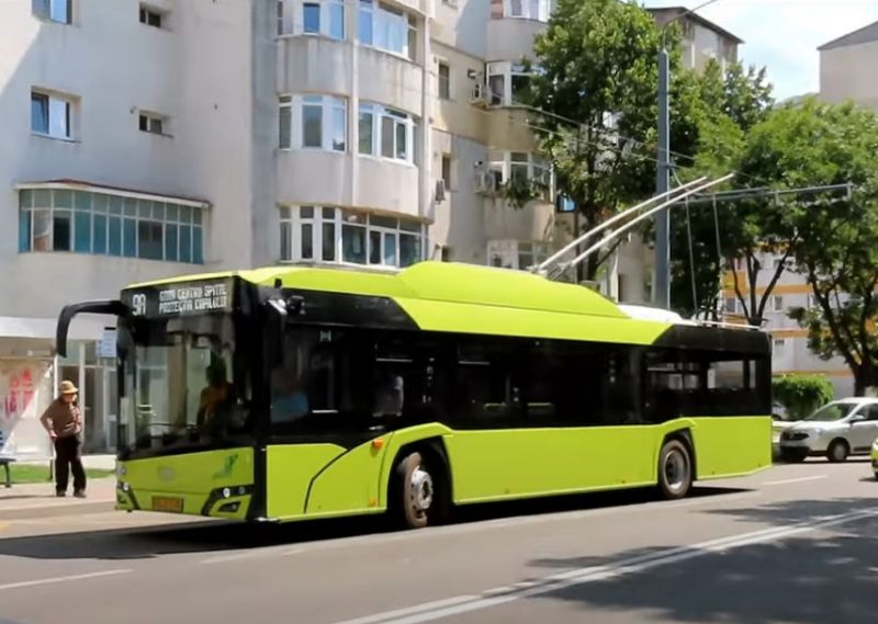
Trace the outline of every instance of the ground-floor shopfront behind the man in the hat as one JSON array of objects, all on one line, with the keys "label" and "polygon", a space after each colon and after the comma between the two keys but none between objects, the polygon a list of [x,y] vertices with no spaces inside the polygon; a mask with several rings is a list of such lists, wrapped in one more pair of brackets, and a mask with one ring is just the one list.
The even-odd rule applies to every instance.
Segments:
[{"label": "ground-floor shopfront behind the man in the hat", "polygon": [[79,388],[83,451],[115,451],[116,373],[112,329],[77,321],[67,358],[54,351],[54,319],[0,317],[0,432],[4,454],[43,460],[52,444],[40,417],[61,381]]}]

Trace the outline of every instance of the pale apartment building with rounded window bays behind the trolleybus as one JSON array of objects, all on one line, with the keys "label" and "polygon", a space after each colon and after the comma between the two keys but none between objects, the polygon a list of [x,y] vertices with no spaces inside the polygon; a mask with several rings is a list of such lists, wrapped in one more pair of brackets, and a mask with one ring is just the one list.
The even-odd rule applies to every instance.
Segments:
[{"label": "pale apartment building with rounded window bays behind the trolleybus", "polygon": [[[113,319],[77,320],[58,359],[68,302],[272,263],[524,269],[544,258],[570,216],[551,192],[511,209],[496,191],[519,177],[551,188],[516,94],[552,7],[0,2],[7,451],[48,453],[36,418],[63,378],[81,390],[87,450],[113,449]],[[694,66],[709,47],[695,21]],[[713,31],[716,54],[733,59],[739,39]],[[650,256],[623,250],[608,292],[627,280],[621,298],[641,300]]]}]

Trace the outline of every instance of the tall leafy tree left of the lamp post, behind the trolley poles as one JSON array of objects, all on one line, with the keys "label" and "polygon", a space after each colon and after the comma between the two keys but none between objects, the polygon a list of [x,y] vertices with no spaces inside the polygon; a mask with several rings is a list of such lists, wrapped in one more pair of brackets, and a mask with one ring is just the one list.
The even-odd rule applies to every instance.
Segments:
[{"label": "tall leafy tree left of the lamp post, behind the trolley poles", "polygon": [[[677,41],[671,30],[674,50]],[[548,29],[536,37],[539,71],[525,99],[543,112],[533,121],[540,127],[540,151],[551,159],[558,188],[577,206],[585,229],[653,193],[660,45],[653,18],[618,0],[560,0]],[[672,55],[671,66],[679,70],[678,54]],[[680,127],[677,147],[693,134],[687,129],[687,79],[675,82],[684,103],[674,111]],[[614,250],[603,259],[589,258],[579,279],[594,280]]]}]

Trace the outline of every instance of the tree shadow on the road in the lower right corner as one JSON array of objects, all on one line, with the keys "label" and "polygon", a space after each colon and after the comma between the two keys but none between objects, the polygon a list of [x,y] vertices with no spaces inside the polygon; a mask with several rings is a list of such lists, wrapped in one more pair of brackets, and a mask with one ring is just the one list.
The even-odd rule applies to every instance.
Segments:
[{"label": "tree shadow on the road in the lower right corner", "polygon": [[[793,524],[864,509],[863,499],[800,500],[752,509],[712,510],[741,520]],[[534,567],[573,570],[658,556],[657,549],[621,553],[611,559],[570,557],[531,561]],[[822,529],[809,536],[699,552],[627,576],[575,585],[532,597],[564,601],[599,613],[641,611],[657,622],[699,624],[874,624],[878,590],[878,519]],[[702,556],[699,556],[702,555]],[[595,617],[597,616],[597,617]]]}]

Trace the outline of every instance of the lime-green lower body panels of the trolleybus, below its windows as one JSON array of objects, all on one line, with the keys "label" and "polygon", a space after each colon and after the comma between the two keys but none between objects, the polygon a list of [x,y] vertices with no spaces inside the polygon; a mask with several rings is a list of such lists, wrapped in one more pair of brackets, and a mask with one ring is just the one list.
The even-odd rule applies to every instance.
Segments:
[{"label": "lime-green lower body panels of the trolleybus, below its windows", "polygon": [[[657,484],[665,438],[688,432],[701,480],[747,475],[772,465],[769,417],[686,418],[656,426],[452,431],[441,424],[403,429],[345,450],[334,444],[271,445],[267,450],[267,514],[294,521],[380,513],[403,449],[440,443],[449,462],[455,504],[556,496]],[[376,447],[380,446],[380,447]],[[232,455],[234,473],[216,478]],[[120,464],[139,509],[154,496],[182,497],[184,513],[202,513],[211,491],[252,485],[252,450],[214,451]],[[179,479],[162,479],[162,468]],[[238,497],[222,502],[238,500]],[[237,513],[245,519],[249,496]],[[119,509],[134,503],[120,490]]]}]

